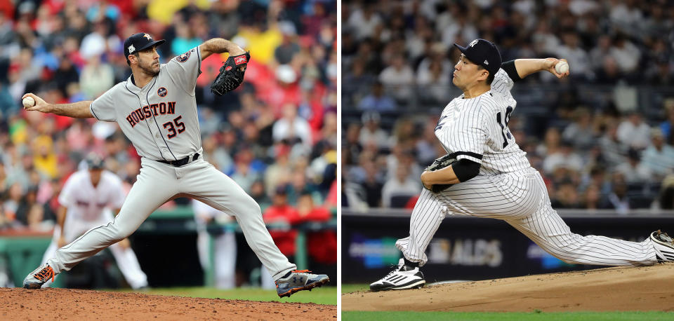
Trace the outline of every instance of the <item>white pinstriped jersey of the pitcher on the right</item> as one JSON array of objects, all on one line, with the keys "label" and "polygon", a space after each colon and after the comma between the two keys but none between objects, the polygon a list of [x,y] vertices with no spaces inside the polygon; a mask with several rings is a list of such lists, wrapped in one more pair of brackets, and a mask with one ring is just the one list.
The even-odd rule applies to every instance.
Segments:
[{"label": "white pinstriped jersey of the pitcher on the right", "polygon": [[530,168],[527,153],[508,130],[517,102],[510,95],[513,80],[499,69],[491,90],[480,96],[454,98],[444,107],[435,136],[447,153],[482,164],[480,175],[494,175]]}]

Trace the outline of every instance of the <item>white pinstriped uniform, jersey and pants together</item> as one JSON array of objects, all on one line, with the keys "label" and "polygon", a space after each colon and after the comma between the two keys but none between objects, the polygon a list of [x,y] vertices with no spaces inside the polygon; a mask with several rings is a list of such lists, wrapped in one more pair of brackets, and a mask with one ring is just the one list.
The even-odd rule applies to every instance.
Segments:
[{"label": "white pinstriped uniform, jersey and pants together", "polygon": [[571,233],[553,210],[541,175],[508,130],[516,102],[513,81],[500,69],[491,90],[478,97],[452,100],[435,128],[437,139],[456,158],[481,163],[480,175],[433,193],[423,189],[409,223],[409,236],[396,247],[409,261],[423,265],[447,214],[503,219],[558,259],[571,264],[638,266],[656,263],[650,238],[641,243]]}]

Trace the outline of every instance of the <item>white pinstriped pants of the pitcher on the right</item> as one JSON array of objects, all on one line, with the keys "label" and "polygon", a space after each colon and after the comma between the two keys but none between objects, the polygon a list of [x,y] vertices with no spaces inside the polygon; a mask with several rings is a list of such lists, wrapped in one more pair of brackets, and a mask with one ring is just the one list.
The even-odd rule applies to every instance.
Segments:
[{"label": "white pinstriped pants of the pitcher on the right", "polygon": [[503,219],[538,246],[569,264],[640,266],[656,263],[650,238],[635,243],[605,236],[571,233],[550,205],[541,175],[520,172],[482,176],[451,186],[441,193],[423,189],[414,205],[409,236],[395,246],[420,266],[428,261],[428,243],[446,214]]}]

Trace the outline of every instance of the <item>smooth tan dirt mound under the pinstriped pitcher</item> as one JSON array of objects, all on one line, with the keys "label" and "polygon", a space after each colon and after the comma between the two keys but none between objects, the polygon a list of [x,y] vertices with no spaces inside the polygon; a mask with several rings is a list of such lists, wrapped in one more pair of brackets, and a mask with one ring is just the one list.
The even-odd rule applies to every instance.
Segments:
[{"label": "smooth tan dirt mound under the pinstriped pitcher", "polygon": [[342,310],[674,311],[674,264],[343,294]]}]

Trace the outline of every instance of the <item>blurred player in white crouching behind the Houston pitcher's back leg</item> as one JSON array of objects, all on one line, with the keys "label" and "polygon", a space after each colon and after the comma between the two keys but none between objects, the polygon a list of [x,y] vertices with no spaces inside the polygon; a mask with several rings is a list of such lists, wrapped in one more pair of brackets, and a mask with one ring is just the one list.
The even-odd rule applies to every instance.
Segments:
[{"label": "blurred player in white crouching behind the Houston pitcher's back leg", "polygon": [[[87,156],[86,164],[87,169],[68,177],[58,196],[57,225],[51,244],[44,252],[43,264],[58,248],[71,243],[90,228],[106,224],[124,204],[126,195],[121,179],[103,169],[103,159],[91,154]],[[128,238],[110,245],[110,252],[128,285],[133,289],[147,287],[147,275],[140,269]],[[44,287],[49,285],[51,282]]]}]

